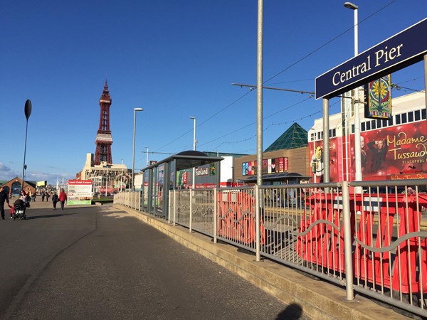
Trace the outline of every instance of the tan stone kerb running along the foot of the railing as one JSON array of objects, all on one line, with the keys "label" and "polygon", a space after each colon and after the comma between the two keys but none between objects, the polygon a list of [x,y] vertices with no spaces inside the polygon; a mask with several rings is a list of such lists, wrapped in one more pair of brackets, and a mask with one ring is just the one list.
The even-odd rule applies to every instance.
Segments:
[{"label": "tan stone kerb running along the foot of the railing", "polygon": [[311,319],[408,319],[367,297],[362,297],[357,292],[354,292],[354,299],[349,301],[343,287],[312,279],[290,267],[267,259],[256,262],[251,252],[239,250],[223,242],[215,244],[208,236],[189,233],[187,228],[169,225],[165,220],[125,206],[117,205],[117,208],[126,210],[191,250],[226,267],[285,304],[297,306]]}]

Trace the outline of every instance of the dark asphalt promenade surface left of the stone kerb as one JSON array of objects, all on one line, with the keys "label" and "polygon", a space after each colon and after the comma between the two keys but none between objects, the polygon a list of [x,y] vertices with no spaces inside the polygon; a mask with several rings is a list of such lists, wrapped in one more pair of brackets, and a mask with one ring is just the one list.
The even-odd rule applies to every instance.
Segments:
[{"label": "dark asphalt promenade surface left of the stone kerb", "polygon": [[307,319],[111,205],[27,215],[0,220],[0,319]]}]

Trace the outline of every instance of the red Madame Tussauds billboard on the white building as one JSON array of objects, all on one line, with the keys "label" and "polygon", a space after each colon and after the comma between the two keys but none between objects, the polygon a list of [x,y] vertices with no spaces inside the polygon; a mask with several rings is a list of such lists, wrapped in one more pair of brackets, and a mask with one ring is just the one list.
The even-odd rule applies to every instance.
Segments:
[{"label": "red Madame Tussauds billboard on the white building", "polygon": [[[427,125],[425,121],[362,132],[361,162],[363,180],[427,178]],[[343,137],[330,139],[330,181],[347,178]],[[349,181],[354,181],[354,134],[349,136]],[[310,157],[315,154],[310,143]],[[312,174],[313,176],[313,174]],[[317,172],[317,182],[320,173]],[[314,176],[313,176],[314,181]]]}]

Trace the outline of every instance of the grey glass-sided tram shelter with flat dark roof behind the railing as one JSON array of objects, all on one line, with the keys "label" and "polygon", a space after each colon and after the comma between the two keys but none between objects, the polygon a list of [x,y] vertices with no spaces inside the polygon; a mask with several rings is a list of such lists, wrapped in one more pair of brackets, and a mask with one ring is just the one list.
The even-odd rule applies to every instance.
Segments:
[{"label": "grey glass-sided tram shelter with flat dark roof behind the railing", "polygon": [[[167,219],[169,216],[169,190],[179,186],[178,174],[187,169],[196,169],[207,164],[216,164],[216,187],[220,186],[220,161],[219,156],[207,156],[204,152],[196,150],[182,151],[169,156],[151,166],[142,169],[142,203],[144,211]],[[196,176],[194,176],[196,178]],[[197,180],[197,178],[195,179]],[[192,179],[191,179],[192,182]]]}]

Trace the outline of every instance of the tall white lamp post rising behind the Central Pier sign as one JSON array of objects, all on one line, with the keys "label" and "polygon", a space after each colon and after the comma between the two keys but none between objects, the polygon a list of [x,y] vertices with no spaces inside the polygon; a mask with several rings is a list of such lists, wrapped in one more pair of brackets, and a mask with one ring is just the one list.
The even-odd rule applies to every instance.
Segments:
[{"label": "tall white lamp post rising behind the Central Pier sign", "polygon": [[[354,56],[359,54],[359,31],[357,22],[357,9],[359,7],[351,2],[345,2],[344,6],[354,11]],[[359,88],[352,91],[354,97],[354,164],[355,180],[362,181],[362,155],[360,152],[360,113],[359,113]],[[347,132],[346,132],[347,133]],[[347,147],[347,146],[346,146]],[[356,187],[357,193],[362,193],[361,187]]]}]

